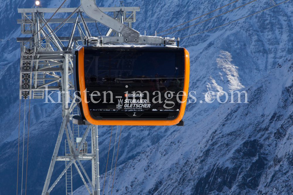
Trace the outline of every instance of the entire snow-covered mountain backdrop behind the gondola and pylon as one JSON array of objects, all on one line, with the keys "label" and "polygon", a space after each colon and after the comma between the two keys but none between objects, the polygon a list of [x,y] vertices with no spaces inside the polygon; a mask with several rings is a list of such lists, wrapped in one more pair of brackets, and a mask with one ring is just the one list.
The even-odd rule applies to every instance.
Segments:
[{"label": "entire snow-covered mountain backdrop behind the gondola and pylon", "polygon": [[[248,2],[236,1],[180,27],[195,24]],[[194,34],[280,2],[257,0],[167,36]],[[62,1],[41,3],[42,7],[58,7]],[[160,32],[228,3],[230,1],[226,0],[127,0],[124,6],[140,6],[141,11],[137,12],[137,21],[132,27],[141,33],[146,30],[147,35],[151,35],[155,30]],[[120,2],[97,0],[98,6],[115,4],[118,6]],[[2,13],[5,13],[0,16],[2,195],[16,193],[20,50],[15,37],[24,36],[16,24],[16,19],[21,18],[17,8],[31,7],[33,1],[0,0],[0,5]],[[66,7],[78,5],[78,0],[67,0],[64,4]],[[56,17],[61,16],[58,14]],[[292,25],[293,4],[288,1],[224,27],[181,39],[180,46],[184,46],[190,53],[189,91],[196,91],[197,101],[187,104],[184,127],[122,127],[113,194],[292,194]],[[57,33],[58,36],[69,36],[71,25],[67,26],[67,30]],[[100,24],[98,27],[105,34],[107,28]],[[89,28],[91,34],[97,34],[94,24],[89,25]],[[179,27],[174,28],[177,29]],[[229,103],[229,92],[235,90],[245,90],[249,103]],[[215,99],[213,103],[205,101],[204,94],[208,91],[215,92],[215,95],[208,97],[209,100]],[[217,101],[216,94],[220,91],[226,91],[229,95],[229,100],[224,104]],[[236,100],[234,94],[234,102]],[[40,194],[42,191],[61,123],[60,105],[43,102],[30,102],[28,194]],[[21,100],[18,194],[21,192],[23,109],[24,100]],[[26,145],[27,113],[25,117]],[[113,127],[113,132],[116,128]],[[98,129],[100,173],[105,172],[110,131],[109,126]],[[60,155],[64,153],[64,144],[61,146]],[[113,147],[112,137],[109,156],[113,155]],[[26,160],[24,162],[26,165]],[[91,164],[85,163],[84,166],[90,170]],[[56,163],[52,180],[57,178],[57,173],[64,167],[64,162]],[[111,160],[108,162],[108,171],[109,167]],[[74,175],[76,189],[83,183],[76,171]],[[104,194],[108,190],[109,175],[107,173]],[[103,182],[104,176],[101,175],[102,190]],[[64,193],[62,178],[51,194]],[[87,194],[87,191],[82,186],[75,193]]]}]

